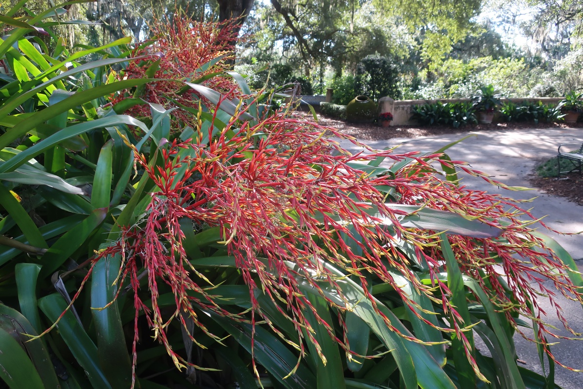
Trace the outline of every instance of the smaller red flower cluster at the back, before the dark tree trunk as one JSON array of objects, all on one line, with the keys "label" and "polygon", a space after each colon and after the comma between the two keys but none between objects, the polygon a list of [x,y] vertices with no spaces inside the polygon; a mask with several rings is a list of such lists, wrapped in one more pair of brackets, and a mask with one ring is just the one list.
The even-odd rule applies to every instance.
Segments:
[{"label": "smaller red flower cluster at the back, before the dark tree trunk", "polygon": [[[130,61],[123,72],[116,73],[118,79],[156,78],[147,83],[141,96],[149,103],[160,104],[164,108],[186,107],[198,110],[199,96],[194,90],[185,87],[182,81],[195,82],[212,73],[228,70],[226,61],[232,59],[234,47],[231,42],[245,40],[237,37],[237,19],[225,22],[196,22],[189,19],[184,10],[174,11],[173,24],[154,20],[150,26],[152,40],[136,44],[132,57],[146,57],[140,61]],[[217,61],[219,57],[222,57]],[[203,65],[216,61],[206,69]],[[156,65],[157,63],[157,65]],[[149,74],[150,66],[157,66],[156,72]],[[151,72],[151,70],[150,70]],[[175,80],[175,81],[174,81]],[[202,85],[225,94],[228,99],[241,98],[243,94],[233,78],[217,75],[205,80]],[[134,97],[129,90],[121,91],[112,97],[113,103]],[[208,101],[206,101],[208,103]],[[135,117],[151,117],[150,107],[138,105],[130,108],[127,114]],[[189,125],[198,127],[198,118],[188,110],[173,113],[174,128]]]}]

